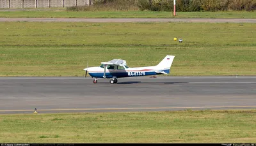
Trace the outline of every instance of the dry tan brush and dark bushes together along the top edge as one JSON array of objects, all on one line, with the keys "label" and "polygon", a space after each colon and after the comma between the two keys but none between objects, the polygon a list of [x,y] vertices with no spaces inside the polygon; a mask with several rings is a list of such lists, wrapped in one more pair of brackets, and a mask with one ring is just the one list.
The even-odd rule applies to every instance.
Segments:
[{"label": "dry tan brush and dark bushes together along the top edge", "polygon": [[[176,0],[175,8],[176,11],[255,11],[256,0]],[[93,0],[92,6],[72,6],[67,9],[173,11],[173,0]]]}]

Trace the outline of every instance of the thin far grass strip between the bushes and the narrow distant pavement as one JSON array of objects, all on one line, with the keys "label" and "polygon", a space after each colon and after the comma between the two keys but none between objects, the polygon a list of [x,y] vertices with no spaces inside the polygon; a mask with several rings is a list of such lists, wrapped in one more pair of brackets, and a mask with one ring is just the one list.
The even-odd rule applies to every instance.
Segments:
[{"label": "thin far grass strip between the bushes and the narrow distant pavement", "polygon": [[[0,9],[1,10],[1,9]],[[27,9],[24,11],[0,11],[5,18],[256,18],[250,11],[179,12],[173,11],[66,11],[64,9]]]}]

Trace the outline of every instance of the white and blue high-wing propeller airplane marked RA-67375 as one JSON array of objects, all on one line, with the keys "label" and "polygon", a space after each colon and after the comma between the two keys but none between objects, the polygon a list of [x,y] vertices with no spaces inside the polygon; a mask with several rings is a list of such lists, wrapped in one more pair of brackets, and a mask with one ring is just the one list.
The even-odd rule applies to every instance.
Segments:
[{"label": "white and blue high-wing propeller airplane marked RA-67375", "polygon": [[101,66],[84,68],[85,77],[88,72],[92,78],[95,78],[93,80],[94,84],[97,83],[97,78],[111,78],[109,83],[115,84],[117,83],[117,78],[164,75],[170,73],[174,57],[174,55],[166,55],[156,66],[138,68],[129,68],[125,60],[113,59],[108,62],[101,62]]}]

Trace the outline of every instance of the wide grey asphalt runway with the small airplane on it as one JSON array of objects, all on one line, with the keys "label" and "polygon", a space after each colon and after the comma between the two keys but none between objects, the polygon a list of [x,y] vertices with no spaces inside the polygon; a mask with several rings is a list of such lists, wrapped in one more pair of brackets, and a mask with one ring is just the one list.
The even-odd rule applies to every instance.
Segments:
[{"label": "wide grey asphalt runway with the small airplane on it", "polygon": [[0,77],[0,114],[256,108],[256,77]]}]

